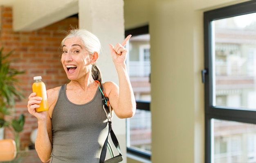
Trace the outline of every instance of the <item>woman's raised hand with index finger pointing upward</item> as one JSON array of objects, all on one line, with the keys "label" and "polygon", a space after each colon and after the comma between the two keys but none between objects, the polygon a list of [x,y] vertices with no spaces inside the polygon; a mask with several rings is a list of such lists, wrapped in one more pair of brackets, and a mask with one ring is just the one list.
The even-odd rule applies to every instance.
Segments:
[{"label": "woman's raised hand with index finger pointing upward", "polygon": [[112,44],[109,44],[109,47],[111,50],[111,55],[112,55],[112,60],[114,63],[117,63],[117,64],[125,63],[128,50],[126,48],[124,48],[124,46],[129,41],[131,36],[132,35],[128,35],[126,37],[126,39],[124,39],[122,44],[117,43],[117,45],[115,47]]}]

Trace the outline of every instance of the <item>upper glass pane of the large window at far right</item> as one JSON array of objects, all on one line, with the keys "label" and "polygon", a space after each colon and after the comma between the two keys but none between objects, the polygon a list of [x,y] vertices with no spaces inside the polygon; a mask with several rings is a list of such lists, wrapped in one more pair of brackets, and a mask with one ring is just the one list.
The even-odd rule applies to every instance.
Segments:
[{"label": "upper glass pane of the large window at far right", "polygon": [[256,109],[256,13],[211,26],[213,106]]}]

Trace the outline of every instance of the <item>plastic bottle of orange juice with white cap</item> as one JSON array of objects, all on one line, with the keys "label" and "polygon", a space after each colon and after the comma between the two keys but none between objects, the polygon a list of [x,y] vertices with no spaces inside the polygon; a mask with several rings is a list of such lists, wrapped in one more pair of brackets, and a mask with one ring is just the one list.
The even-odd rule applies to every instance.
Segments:
[{"label": "plastic bottle of orange juice with white cap", "polygon": [[34,77],[34,83],[32,85],[32,89],[33,89],[33,92],[36,92],[36,96],[39,96],[42,98],[42,101],[39,104],[40,107],[36,108],[36,111],[37,112],[47,111],[49,109],[49,107],[48,107],[45,83],[43,83],[43,81],[42,81],[42,76]]}]

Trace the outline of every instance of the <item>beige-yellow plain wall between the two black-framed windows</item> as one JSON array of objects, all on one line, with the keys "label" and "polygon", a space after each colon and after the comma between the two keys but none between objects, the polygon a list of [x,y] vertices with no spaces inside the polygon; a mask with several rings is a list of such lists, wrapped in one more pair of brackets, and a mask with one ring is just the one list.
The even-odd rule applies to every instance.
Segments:
[{"label": "beige-yellow plain wall between the two black-framed windows", "polygon": [[124,2],[126,29],[149,24],[152,163],[204,163],[203,12],[244,1]]}]

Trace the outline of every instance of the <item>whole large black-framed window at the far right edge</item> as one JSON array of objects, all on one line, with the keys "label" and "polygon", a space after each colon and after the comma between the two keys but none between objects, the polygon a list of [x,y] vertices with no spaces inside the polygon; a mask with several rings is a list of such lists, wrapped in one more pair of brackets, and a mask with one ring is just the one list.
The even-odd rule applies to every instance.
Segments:
[{"label": "whole large black-framed window at the far right edge", "polygon": [[204,13],[205,163],[256,163],[256,0]]}]

